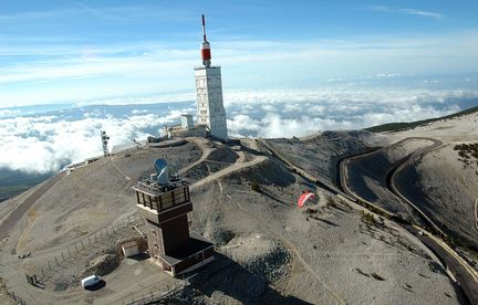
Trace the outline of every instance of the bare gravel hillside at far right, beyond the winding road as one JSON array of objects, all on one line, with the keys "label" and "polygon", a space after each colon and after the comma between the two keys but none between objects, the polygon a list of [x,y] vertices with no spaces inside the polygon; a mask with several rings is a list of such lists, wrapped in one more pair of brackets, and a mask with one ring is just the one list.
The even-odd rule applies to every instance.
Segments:
[{"label": "bare gravel hillside at far right, beyond the winding road", "polygon": [[454,147],[464,143],[478,143],[477,126],[478,113],[474,113],[387,134],[395,139],[428,136],[445,143],[443,148],[406,168],[399,177],[401,189],[446,225],[455,238],[475,246],[478,246],[474,210],[478,198],[478,160],[474,157],[465,160]]}]

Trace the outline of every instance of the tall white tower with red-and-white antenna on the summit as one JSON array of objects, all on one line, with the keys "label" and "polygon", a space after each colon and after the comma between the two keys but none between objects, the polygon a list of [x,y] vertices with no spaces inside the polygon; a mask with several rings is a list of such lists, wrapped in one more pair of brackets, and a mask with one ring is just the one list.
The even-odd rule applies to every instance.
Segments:
[{"label": "tall white tower with red-and-white antenna on the summit", "polygon": [[202,66],[195,67],[197,123],[209,127],[212,137],[229,140],[226,111],[222,103],[220,66],[210,65],[210,44],[206,40],[206,22],[202,15]]}]

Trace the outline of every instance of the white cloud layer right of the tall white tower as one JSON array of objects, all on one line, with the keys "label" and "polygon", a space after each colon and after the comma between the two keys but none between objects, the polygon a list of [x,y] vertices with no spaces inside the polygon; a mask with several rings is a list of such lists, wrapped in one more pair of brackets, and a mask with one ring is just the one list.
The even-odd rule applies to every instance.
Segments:
[{"label": "white cloud layer right of the tall white tower", "polygon": [[232,135],[271,138],[439,117],[477,97],[461,90],[322,88],[229,92],[226,104]]}]

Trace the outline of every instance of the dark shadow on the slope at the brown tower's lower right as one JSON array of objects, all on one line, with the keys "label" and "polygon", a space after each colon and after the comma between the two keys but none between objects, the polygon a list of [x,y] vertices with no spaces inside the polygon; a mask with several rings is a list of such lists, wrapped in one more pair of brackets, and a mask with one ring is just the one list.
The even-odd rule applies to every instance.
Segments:
[{"label": "dark shadow on the slope at the brown tower's lower right", "polygon": [[216,261],[189,275],[195,293],[208,297],[219,292],[241,304],[311,304],[295,296],[285,296],[272,288],[266,276],[251,273],[231,259],[217,253]]}]

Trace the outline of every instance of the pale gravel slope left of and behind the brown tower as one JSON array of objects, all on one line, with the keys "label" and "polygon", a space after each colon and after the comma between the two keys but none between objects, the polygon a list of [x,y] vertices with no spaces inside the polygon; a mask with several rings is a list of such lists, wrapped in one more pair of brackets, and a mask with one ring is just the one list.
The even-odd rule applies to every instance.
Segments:
[{"label": "pale gravel slope left of and behind the brown tower", "polygon": [[154,160],[167,157],[180,168],[199,156],[200,150],[193,144],[134,149],[72,171],[29,210],[18,251],[51,249],[131,214],[135,211],[131,187],[139,177],[148,177],[154,171]]}]

